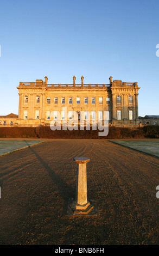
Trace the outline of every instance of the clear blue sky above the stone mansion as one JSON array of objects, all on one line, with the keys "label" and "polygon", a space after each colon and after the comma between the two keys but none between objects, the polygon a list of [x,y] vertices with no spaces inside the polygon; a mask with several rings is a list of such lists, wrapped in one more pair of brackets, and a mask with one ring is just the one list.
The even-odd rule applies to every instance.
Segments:
[{"label": "clear blue sky above the stone mansion", "polygon": [[139,115],[159,115],[158,0],[1,0],[0,115],[19,82],[138,82]]}]

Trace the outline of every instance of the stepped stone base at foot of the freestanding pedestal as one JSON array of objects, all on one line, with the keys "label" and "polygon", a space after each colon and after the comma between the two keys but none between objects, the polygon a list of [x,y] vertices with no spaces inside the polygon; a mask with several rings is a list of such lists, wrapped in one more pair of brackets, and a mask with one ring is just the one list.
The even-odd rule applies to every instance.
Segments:
[{"label": "stepped stone base at foot of the freestanding pedestal", "polygon": [[84,205],[77,204],[73,199],[69,199],[68,202],[68,211],[72,211],[73,215],[87,215],[92,211],[94,206],[87,202]]}]

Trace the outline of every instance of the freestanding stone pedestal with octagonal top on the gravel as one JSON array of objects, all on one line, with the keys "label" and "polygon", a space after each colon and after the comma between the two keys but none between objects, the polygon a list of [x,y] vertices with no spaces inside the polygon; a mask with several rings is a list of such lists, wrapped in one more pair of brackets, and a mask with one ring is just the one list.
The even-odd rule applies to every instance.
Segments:
[{"label": "freestanding stone pedestal with octagonal top on the gravel", "polygon": [[86,163],[90,161],[87,157],[75,157],[74,161],[78,163],[77,185],[75,200],[69,204],[74,214],[88,214],[93,209],[93,205],[87,201],[87,171]]}]

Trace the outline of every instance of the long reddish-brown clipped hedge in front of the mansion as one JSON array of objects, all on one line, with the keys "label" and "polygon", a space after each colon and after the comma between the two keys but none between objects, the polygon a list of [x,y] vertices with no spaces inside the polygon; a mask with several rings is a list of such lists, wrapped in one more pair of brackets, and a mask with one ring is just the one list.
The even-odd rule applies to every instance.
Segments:
[{"label": "long reddish-brown clipped hedge in front of the mansion", "polygon": [[49,126],[37,127],[0,127],[0,138],[86,138],[86,139],[120,139],[120,138],[155,138],[159,134],[159,126],[144,126],[138,129],[109,127],[107,136],[98,136],[96,131],[80,129],[69,131],[55,130],[52,131]]}]

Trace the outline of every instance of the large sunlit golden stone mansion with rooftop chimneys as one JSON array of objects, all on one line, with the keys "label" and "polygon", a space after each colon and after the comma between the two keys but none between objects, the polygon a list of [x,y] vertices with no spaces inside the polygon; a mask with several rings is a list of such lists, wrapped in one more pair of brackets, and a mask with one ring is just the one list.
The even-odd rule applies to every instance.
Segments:
[{"label": "large sunlit golden stone mansion with rooftop chimneys", "polygon": [[[49,84],[48,78],[36,82],[20,82],[18,89],[18,115],[10,114],[0,121],[17,126],[49,125],[52,119],[57,119],[58,112],[61,120],[71,120],[73,113],[81,118],[104,120],[104,112],[110,125],[133,126],[139,124],[138,118],[138,84],[126,83],[121,80],[109,84],[85,84],[84,77],[81,83]],[[63,107],[67,112],[63,111]],[[83,114],[81,114],[83,113]],[[97,117],[98,113],[98,117]]]}]

